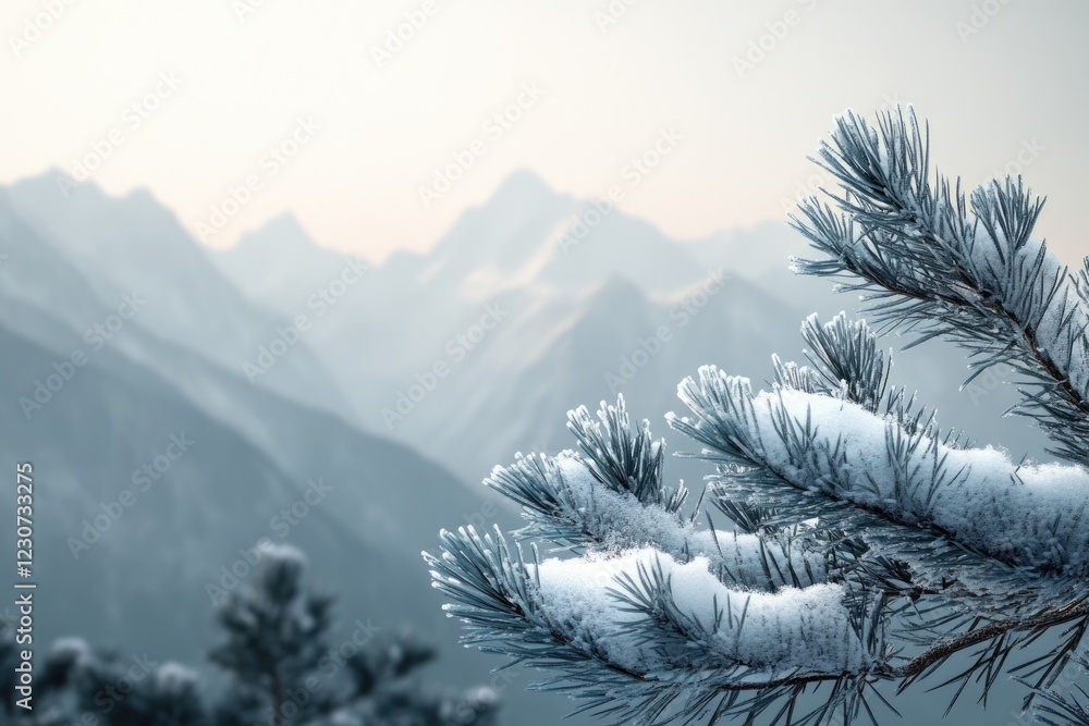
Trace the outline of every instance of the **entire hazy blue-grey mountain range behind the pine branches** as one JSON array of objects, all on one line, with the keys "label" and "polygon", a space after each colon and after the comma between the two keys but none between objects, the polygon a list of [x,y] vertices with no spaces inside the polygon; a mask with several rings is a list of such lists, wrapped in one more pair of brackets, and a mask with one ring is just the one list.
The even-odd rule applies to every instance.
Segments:
[{"label": "entire hazy blue-grey mountain range behind the pine branches", "polygon": [[[419,552],[441,527],[515,521],[478,483],[491,467],[570,447],[566,411],[617,394],[690,450],[663,421],[684,377],[715,364],[760,384],[773,353],[802,358],[805,316],[857,307],[790,273],[805,245],[784,224],[678,241],[528,171],[381,264],[290,213],[207,249],[147,190],[57,179],[0,188],[0,452],[36,466],[40,635],[163,660],[201,659],[209,586],[264,537],[309,554],[344,622],[412,624],[448,647],[443,679],[487,681],[498,663],[452,647]],[[1002,418],[1001,377],[958,392],[964,373],[932,344],[897,352],[893,382],[944,426],[1041,456]],[[524,685],[503,693],[519,723],[570,706]]]}]

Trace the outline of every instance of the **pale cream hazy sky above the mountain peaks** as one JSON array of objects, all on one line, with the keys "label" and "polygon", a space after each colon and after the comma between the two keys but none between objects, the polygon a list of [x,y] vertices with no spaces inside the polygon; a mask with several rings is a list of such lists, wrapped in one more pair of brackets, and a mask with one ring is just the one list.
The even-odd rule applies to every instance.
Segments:
[{"label": "pale cream hazy sky above the mountain peaks", "polygon": [[[290,209],[370,259],[424,249],[522,167],[584,196],[622,183],[627,211],[701,236],[781,219],[833,114],[909,101],[943,170],[1021,163],[1042,231],[1089,254],[1084,1],[69,2],[0,11],[0,182],[108,151],[94,182],[150,187],[196,234],[256,177],[215,246]],[[420,27],[387,48],[406,13]],[[663,130],[669,153],[633,173]],[[427,208],[455,156],[472,167]]]}]

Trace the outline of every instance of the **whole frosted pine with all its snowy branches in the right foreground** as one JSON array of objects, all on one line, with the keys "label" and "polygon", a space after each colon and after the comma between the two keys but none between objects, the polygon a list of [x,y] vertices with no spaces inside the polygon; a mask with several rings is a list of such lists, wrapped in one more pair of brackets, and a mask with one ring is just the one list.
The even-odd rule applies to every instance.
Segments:
[{"label": "whole frosted pine with all its snowy branches in the right foreground", "polygon": [[928,137],[910,110],[837,120],[818,163],[841,188],[791,218],[821,255],[796,271],[861,293],[884,330],[959,344],[972,376],[1013,366],[1016,413],[1068,464],[940,430],[865,322],[812,317],[808,365],[773,358],[769,390],[713,366],[681,383],[689,413],[668,421],[715,465],[689,514],[623,398],[568,415],[577,453],[497,468],[486,483],[527,520],[514,544],[469,527],[425,555],[467,642],[614,723],[877,723],[882,685],[954,656],[953,701],[1015,674],[1043,723],[1089,723],[1054,688],[1089,628],[1089,259],[1070,272],[1032,238],[1020,179],[966,196],[932,176]]}]

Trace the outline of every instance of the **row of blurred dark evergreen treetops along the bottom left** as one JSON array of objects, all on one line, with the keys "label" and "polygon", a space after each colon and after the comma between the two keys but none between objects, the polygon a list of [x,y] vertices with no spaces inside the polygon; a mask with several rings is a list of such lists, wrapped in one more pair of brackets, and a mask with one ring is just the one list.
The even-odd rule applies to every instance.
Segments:
[{"label": "row of blurred dark evergreen treetops along the bottom left", "polygon": [[[14,627],[0,620],[5,688],[0,726],[490,726],[499,703],[487,688],[432,693],[419,670],[437,652],[409,633],[353,633],[351,654],[330,649],[332,599],[304,587],[292,547],[267,553],[250,583],[218,612],[224,639],[209,654],[228,672],[212,701],[176,663],[123,659],[78,638],[53,643],[35,666],[34,710],[15,705]],[[360,642],[359,635],[366,640]],[[335,659],[334,659],[335,655]],[[9,667],[10,666],[10,667]]]}]

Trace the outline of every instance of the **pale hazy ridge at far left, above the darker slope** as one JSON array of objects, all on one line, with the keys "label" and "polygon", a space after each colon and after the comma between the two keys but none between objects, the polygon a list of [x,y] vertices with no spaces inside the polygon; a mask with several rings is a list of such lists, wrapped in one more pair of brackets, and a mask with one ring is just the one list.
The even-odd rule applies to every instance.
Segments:
[{"label": "pale hazy ridge at far left, above the darker slope", "polygon": [[[133,292],[145,297],[137,327],[228,370],[243,371],[287,323],[240,293],[147,190],[110,197],[93,183],[72,189],[58,185],[57,179],[58,173],[50,172],[14,184],[5,193],[7,212],[0,213],[17,216],[35,237],[63,251],[103,302],[120,303]],[[49,282],[41,281],[47,287]],[[309,406],[352,416],[308,342],[292,348],[255,382]]]}]

